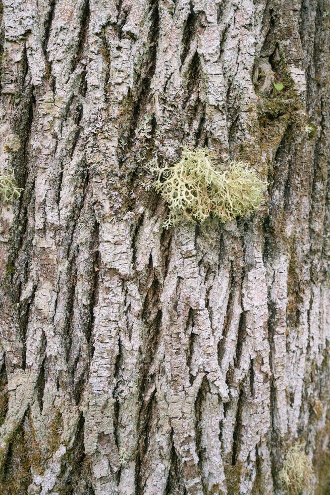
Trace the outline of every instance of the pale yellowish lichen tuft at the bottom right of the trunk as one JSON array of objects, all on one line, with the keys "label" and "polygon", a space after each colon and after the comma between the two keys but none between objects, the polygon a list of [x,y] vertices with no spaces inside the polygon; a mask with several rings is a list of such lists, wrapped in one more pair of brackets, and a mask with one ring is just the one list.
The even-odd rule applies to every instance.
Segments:
[{"label": "pale yellowish lichen tuft at the bottom right of the trunk", "polygon": [[298,495],[302,491],[310,492],[313,468],[302,445],[297,443],[290,447],[279,476],[282,484],[292,495]]}]

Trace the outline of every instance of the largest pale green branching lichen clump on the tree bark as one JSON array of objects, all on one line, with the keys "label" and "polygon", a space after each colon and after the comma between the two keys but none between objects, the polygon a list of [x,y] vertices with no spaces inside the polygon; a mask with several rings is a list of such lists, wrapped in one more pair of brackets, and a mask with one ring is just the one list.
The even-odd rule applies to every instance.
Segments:
[{"label": "largest pale green branching lichen clump on the tree bark", "polygon": [[182,218],[202,223],[211,216],[228,222],[260,208],[266,183],[256,172],[237,161],[218,169],[215,161],[206,148],[184,148],[178,163],[153,165],[156,179],[152,185],[170,208],[164,228],[177,225]]}]

